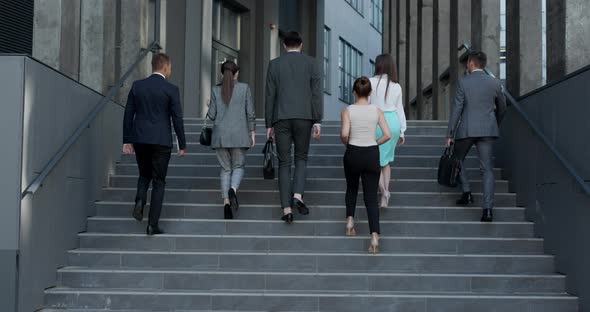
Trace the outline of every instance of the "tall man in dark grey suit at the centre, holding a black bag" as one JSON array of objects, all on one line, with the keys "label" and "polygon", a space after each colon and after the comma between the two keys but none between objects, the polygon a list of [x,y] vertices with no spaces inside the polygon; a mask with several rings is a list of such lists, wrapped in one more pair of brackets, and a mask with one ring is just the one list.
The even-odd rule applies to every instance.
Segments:
[{"label": "tall man in dark grey suit at the centre, holding a black bag", "polygon": [[[315,59],[301,53],[298,32],[285,33],[285,55],[268,65],[265,119],[267,138],[276,137],[282,219],[293,222],[291,208],[309,214],[303,203],[307,154],[313,129],[318,140],[323,117],[322,74]],[[291,181],[291,145],[295,145],[295,175]]]}]

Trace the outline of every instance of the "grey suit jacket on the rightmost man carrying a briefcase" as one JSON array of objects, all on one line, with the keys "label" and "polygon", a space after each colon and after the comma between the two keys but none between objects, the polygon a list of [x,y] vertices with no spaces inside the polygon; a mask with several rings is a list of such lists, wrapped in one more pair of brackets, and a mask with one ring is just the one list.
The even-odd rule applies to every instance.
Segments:
[{"label": "grey suit jacket on the rightmost man carrying a briefcase", "polygon": [[459,79],[457,83],[447,136],[455,136],[458,140],[498,137],[498,125],[505,112],[506,98],[500,81],[482,71],[473,72]]}]

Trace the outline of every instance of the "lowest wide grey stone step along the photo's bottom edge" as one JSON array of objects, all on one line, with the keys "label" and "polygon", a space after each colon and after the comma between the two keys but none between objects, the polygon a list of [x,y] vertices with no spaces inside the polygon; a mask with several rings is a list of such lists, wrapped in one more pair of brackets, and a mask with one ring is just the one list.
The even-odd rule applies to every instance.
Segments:
[{"label": "lowest wide grey stone step along the photo's bottom edge", "polygon": [[[404,312],[577,312],[567,295],[481,295],[472,293],[374,293],[311,291],[148,291],[142,289],[52,288],[49,307],[145,311],[404,311]],[[133,307],[130,309],[130,307]]]}]

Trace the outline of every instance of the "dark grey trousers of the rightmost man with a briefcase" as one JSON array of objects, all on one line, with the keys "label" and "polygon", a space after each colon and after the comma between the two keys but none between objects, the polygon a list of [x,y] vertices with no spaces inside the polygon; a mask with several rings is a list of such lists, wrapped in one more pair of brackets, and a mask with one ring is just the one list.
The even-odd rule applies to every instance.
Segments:
[{"label": "dark grey trousers of the rightmost man with a briefcase", "polygon": [[[493,137],[482,137],[482,138],[466,138],[457,140],[455,142],[455,155],[461,160],[461,166],[463,167],[463,161],[469,153],[469,150],[473,145],[477,148],[477,154],[479,158],[479,168],[482,174],[483,182],[483,209],[494,208],[494,142],[496,138]],[[461,182],[461,188],[463,192],[471,192],[469,185],[469,178],[467,170],[461,170],[459,176]]]}]

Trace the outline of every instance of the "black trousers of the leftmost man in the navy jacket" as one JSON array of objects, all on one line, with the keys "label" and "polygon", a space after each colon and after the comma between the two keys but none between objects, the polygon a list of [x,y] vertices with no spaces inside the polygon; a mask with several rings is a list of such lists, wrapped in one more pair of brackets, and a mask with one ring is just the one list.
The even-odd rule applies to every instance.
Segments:
[{"label": "black trousers of the leftmost man in the navy jacket", "polygon": [[137,195],[135,202],[147,202],[147,191],[152,183],[152,199],[150,200],[150,215],[148,223],[151,226],[158,225],[164,202],[164,190],[166,187],[166,174],[172,148],[153,144],[133,144],[135,158],[139,167],[139,179],[137,180]]}]

